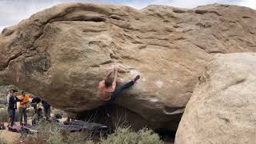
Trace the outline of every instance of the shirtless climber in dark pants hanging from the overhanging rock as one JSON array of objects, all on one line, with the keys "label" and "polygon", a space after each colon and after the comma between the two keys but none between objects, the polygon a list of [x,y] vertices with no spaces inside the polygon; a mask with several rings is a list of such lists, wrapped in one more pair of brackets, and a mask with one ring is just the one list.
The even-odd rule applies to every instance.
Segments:
[{"label": "shirtless climber in dark pants hanging from the overhanging rock", "polygon": [[[99,96],[102,98],[102,101],[106,104],[110,104],[111,102],[114,102],[115,98],[117,98],[122,90],[125,90],[129,88],[130,86],[133,86],[134,83],[140,78],[139,75],[137,75],[132,81],[116,87],[117,80],[118,80],[118,69],[114,68],[114,79],[110,77],[110,75],[113,73],[113,70],[110,71],[109,74],[106,75],[105,78],[98,84],[98,93]],[[110,111],[108,110],[107,116],[110,116]]]}]

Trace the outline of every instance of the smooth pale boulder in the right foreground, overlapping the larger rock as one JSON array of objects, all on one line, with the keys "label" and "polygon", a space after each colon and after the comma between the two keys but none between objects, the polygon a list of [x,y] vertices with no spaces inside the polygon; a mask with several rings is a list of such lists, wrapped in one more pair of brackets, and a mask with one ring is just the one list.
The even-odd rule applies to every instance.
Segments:
[{"label": "smooth pale boulder in the right foreground, overlapping the larger rock", "polygon": [[256,54],[218,54],[178,126],[176,144],[255,143]]}]

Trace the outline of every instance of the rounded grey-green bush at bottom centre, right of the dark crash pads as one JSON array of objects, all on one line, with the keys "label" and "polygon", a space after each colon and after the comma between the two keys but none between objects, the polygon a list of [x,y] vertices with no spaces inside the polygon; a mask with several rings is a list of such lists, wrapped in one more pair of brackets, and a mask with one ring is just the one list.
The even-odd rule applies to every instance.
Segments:
[{"label": "rounded grey-green bush at bottom centre, right of the dark crash pads", "polygon": [[130,127],[118,127],[113,134],[101,139],[101,144],[163,144],[153,130],[146,128],[134,132]]}]

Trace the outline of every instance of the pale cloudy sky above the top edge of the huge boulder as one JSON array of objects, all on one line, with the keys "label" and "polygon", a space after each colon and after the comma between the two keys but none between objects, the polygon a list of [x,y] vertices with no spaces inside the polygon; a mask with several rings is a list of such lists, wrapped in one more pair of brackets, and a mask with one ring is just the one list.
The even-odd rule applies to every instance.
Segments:
[{"label": "pale cloudy sky above the top edge of the huge boulder", "polygon": [[24,18],[29,18],[31,14],[38,10],[63,2],[101,2],[132,6],[136,9],[142,9],[150,4],[194,8],[211,3],[223,3],[256,9],[256,0],[0,0],[0,31],[6,26],[14,25]]}]

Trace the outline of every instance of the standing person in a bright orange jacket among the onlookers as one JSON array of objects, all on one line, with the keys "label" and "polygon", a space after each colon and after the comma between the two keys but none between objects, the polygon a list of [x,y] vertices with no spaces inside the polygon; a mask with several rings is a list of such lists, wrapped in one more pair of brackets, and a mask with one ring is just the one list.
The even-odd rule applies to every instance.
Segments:
[{"label": "standing person in a bright orange jacket among the onlookers", "polygon": [[[27,126],[27,114],[26,108],[29,107],[30,97],[22,91],[21,98],[22,102],[19,103],[19,124]],[[22,123],[22,118],[24,118],[24,123]]]}]

